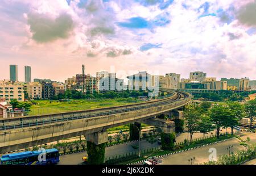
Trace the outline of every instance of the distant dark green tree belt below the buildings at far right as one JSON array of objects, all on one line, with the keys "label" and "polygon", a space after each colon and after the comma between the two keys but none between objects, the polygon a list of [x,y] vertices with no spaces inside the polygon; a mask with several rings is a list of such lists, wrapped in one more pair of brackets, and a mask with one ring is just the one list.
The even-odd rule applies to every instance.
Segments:
[{"label": "distant dark green tree belt below the buildings at far right", "polygon": [[[256,91],[251,91],[250,94],[256,93]],[[222,101],[222,100],[229,100],[229,101],[238,101],[238,100],[243,100],[246,97],[248,97],[249,92],[248,91],[242,91],[241,93],[235,93],[234,91],[230,90],[221,90],[216,93],[200,93],[200,94],[195,94],[194,98],[199,99],[199,98],[204,98],[206,100],[211,100],[211,101]]]}]

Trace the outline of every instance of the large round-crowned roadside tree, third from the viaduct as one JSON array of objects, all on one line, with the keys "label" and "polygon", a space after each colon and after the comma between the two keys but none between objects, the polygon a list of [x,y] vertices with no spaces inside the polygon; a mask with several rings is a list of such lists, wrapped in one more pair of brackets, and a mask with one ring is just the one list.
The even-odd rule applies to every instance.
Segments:
[{"label": "large round-crowned roadside tree, third from the viaduct", "polygon": [[226,119],[230,118],[230,110],[228,107],[222,105],[215,105],[210,109],[210,119],[213,121],[216,131],[217,139],[220,137],[220,129],[226,125]]}]

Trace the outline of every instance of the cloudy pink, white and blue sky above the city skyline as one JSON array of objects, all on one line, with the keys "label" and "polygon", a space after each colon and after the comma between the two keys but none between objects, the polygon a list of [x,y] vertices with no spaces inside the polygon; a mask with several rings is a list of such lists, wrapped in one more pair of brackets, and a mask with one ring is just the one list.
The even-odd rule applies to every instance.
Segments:
[{"label": "cloudy pink, white and blue sky above the city skyline", "polygon": [[2,0],[0,79],[9,65],[64,81],[106,70],[125,77],[206,72],[256,79],[255,0]]}]

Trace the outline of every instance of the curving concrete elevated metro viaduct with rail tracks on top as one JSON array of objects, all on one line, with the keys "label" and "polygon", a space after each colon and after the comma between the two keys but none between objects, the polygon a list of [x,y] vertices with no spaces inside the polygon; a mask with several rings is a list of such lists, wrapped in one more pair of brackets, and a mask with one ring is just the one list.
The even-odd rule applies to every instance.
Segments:
[{"label": "curving concrete elevated metro viaduct with rail tracks on top", "polygon": [[191,100],[191,94],[170,89],[160,91],[170,95],[127,106],[0,119],[0,153],[80,135],[99,145],[108,141],[106,129],[142,121],[155,124],[165,133],[173,132],[173,121],[166,122],[155,117],[182,108]]}]

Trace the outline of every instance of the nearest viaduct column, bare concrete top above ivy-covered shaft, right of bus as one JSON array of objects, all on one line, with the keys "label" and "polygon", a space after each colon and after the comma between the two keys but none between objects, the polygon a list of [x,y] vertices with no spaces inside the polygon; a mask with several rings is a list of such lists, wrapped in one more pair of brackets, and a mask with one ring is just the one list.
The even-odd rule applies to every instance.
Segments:
[{"label": "nearest viaduct column, bare concrete top above ivy-covered shaft, right of bus", "polygon": [[105,146],[108,143],[108,132],[101,131],[85,136],[88,154],[88,164],[99,165],[105,160]]}]

